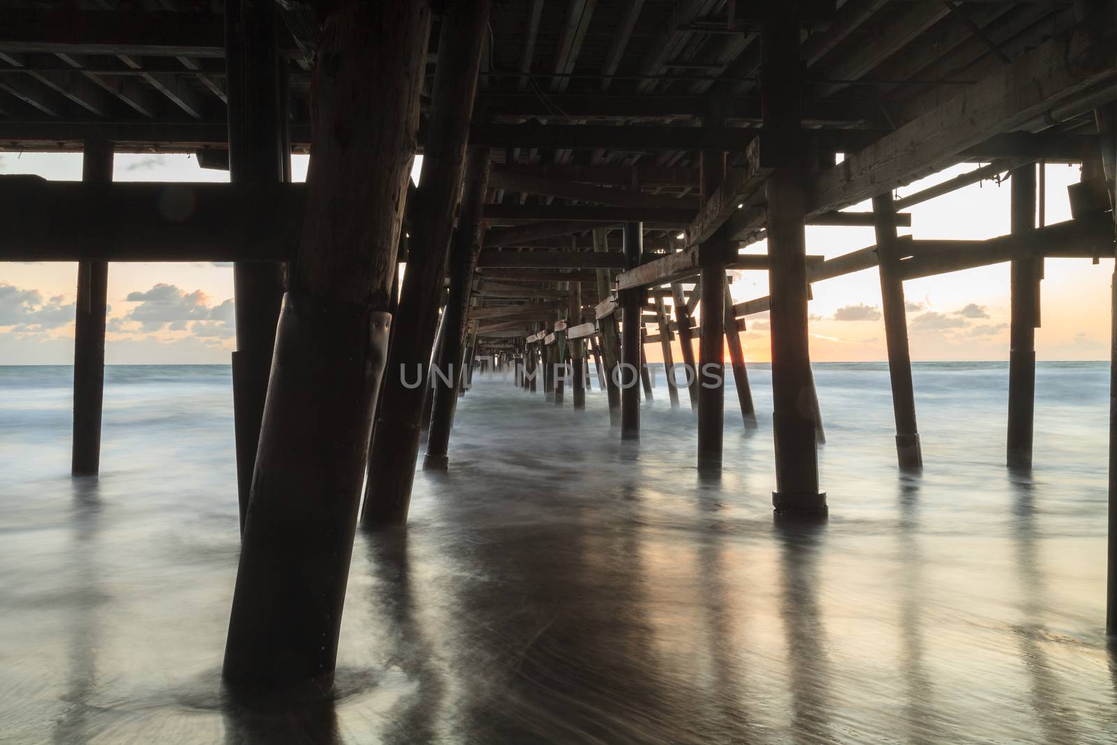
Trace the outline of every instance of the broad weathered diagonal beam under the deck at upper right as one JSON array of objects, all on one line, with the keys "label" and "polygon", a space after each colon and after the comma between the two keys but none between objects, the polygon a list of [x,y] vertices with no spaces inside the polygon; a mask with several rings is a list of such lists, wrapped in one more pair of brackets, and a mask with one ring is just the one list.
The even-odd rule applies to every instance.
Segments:
[{"label": "broad weathered diagonal beam under the deck at upper right", "polygon": [[840,209],[962,160],[960,154],[1048,111],[1066,96],[1117,78],[1111,37],[1078,28],[964,88],[823,171],[809,190],[809,211]]}]

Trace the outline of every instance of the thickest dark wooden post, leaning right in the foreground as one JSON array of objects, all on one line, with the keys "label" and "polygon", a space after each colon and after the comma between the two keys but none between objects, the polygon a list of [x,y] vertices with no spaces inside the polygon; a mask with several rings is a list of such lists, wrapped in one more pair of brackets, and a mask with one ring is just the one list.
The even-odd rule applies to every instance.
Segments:
[{"label": "thickest dark wooden post, leaning right in the foreground", "polygon": [[343,0],[324,23],[300,258],[279,318],[225,653],[237,687],[333,682],[417,145],[429,6]]}]

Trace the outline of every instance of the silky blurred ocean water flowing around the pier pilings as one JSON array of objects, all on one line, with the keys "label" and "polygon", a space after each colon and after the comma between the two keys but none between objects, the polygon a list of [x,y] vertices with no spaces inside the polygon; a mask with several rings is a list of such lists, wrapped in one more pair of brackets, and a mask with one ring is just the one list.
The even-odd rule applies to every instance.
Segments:
[{"label": "silky blurred ocean water flowing around the pier pilings", "polygon": [[819,364],[830,517],[773,522],[760,429],[725,468],[662,376],[639,443],[475,375],[407,529],[360,533],[337,693],[220,687],[238,552],[230,371],[109,366],[102,474],[70,478],[69,367],[0,367],[0,742],[1113,743],[1108,365],[1041,363],[1035,467],[1008,369],[916,364],[925,470],[884,364]]}]

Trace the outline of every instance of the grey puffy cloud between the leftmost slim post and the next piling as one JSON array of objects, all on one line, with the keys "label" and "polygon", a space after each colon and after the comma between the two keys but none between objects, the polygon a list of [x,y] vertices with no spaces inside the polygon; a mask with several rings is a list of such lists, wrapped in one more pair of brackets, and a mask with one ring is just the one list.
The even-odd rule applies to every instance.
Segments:
[{"label": "grey puffy cloud between the leftmost slim post and the next piling", "polygon": [[200,289],[192,293],[174,285],[160,283],[149,290],[128,293],[130,303],[140,305],[122,318],[113,318],[108,331],[126,333],[125,324],[140,324],[141,332],[190,331],[199,337],[228,338],[233,329],[236,304],[229,299],[220,305],[210,305],[209,296]]}]

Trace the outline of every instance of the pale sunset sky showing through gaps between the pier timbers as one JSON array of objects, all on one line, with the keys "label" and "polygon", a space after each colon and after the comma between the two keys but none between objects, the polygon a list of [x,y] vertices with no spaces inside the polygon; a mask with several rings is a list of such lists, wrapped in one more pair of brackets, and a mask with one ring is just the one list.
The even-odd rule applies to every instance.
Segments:
[{"label": "pale sunset sky showing through gaps between the pier timbers", "polygon": [[[416,175],[418,175],[418,163]],[[306,156],[295,156],[296,181]],[[910,194],[963,173],[963,164],[898,189]],[[1067,185],[1079,168],[1047,166],[1048,225],[1070,219]],[[76,181],[77,153],[0,153],[0,174],[34,173]],[[192,155],[117,154],[116,181],[227,181],[227,171],[204,170]],[[1009,232],[1009,183],[983,182],[910,208],[915,238],[985,239]],[[868,202],[852,210],[869,210]],[[872,228],[808,227],[808,252],[832,258],[875,242]],[[764,252],[763,242],[748,247]],[[1040,360],[1108,360],[1109,283],[1113,261],[1047,259]],[[71,364],[76,264],[0,264],[0,365]],[[235,348],[232,267],[199,264],[114,262],[108,271],[107,364],[228,364]],[[767,294],[764,271],[734,273],[735,302]],[[1006,360],[1009,265],[967,269],[905,283],[911,357]],[[811,357],[819,362],[886,360],[880,285],[876,268],[813,285]],[[766,314],[750,316],[742,334],[746,360],[770,360]],[[659,345],[648,345],[660,361]],[[678,348],[676,346],[676,357]]]}]

